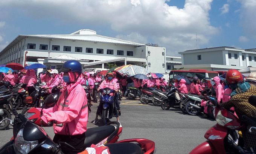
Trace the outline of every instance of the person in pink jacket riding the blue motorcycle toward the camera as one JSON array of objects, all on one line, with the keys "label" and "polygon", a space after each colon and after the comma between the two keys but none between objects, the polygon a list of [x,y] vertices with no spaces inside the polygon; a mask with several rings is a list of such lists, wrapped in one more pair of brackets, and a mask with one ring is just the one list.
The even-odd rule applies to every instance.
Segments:
[{"label": "person in pink jacket riding the blue motorcycle toward the camera", "polygon": [[[101,83],[101,85],[99,86],[98,91],[100,89],[110,88],[110,89],[113,89],[117,92],[118,88],[117,88],[116,82],[113,81],[113,78],[114,78],[113,72],[108,71],[107,74],[106,74],[106,78],[107,79],[105,79]],[[110,96],[113,96],[113,93],[111,93]],[[97,112],[96,112],[96,117],[95,117],[95,120],[93,121],[93,124],[97,124],[99,122],[98,117],[99,117],[100,112],[101,112],[101,108],[100,108],[100,106],[98,106],[98,109],[97,109]],[[120,123],[116,105],[114,105],[114,111],[113,112],[116,115],[116,120]]]}]

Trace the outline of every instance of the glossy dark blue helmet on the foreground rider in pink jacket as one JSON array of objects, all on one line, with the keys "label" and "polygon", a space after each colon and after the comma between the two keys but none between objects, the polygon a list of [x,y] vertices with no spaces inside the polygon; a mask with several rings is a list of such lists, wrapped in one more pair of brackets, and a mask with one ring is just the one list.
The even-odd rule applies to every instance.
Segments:
[{"label": "glossy dark blue helmet on the foreground rider in pink jacket", "polygon": [[76,60],[68,60],[66,61],[63,66],[61,67],[61,69],[59,70],[59,72],[77,72],[79,75],[82,74],[82,65],[79,61]]}]

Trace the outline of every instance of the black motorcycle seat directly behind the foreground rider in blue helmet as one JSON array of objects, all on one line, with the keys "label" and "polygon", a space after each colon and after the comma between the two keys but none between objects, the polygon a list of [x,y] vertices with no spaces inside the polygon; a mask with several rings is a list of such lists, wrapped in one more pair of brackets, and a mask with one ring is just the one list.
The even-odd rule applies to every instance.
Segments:
[{"label": "black motorcycle seat directly behind the foreground rider in blue helmet", "polygon": [[98,144],[105,138],[111,135],[116,130],[116,127],[108,125],[101,127],[89,128],[85,132],[84,149],[91,147],[91,144]]}]

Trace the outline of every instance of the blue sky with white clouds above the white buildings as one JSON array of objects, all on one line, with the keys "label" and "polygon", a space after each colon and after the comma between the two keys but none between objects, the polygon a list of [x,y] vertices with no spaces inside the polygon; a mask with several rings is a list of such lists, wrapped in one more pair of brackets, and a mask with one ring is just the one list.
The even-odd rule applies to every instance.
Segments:
[{"label": "blue sky with white clouds above the white buildings", "polygon": [[256,48],[256,0],[2,0],[0,51],[18,34],[97,34],[157,43],[167,55]]}]

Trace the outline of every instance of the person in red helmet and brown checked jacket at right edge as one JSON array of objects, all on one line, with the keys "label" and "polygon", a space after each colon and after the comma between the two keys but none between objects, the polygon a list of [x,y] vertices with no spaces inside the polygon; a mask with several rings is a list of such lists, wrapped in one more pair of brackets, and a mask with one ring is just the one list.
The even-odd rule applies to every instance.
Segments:
[{"label": "person in red helmet and brown checked jacket at right edge", "polygon": [[[248,98],[256,95],[256,87],[253,84],[244,82],[241,73],[238,70],[231,69],[226,73],[226,84],[231,88],[231,99],[220,105],[225,109],[235,107],[235,112],[240,120],[242,115],[247,117],[256,117],[256,108],[248,102]],[[248,151],[256,150],[256,135],[249,133],[250,125],[242,130],[245,148]]]}]

